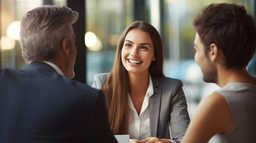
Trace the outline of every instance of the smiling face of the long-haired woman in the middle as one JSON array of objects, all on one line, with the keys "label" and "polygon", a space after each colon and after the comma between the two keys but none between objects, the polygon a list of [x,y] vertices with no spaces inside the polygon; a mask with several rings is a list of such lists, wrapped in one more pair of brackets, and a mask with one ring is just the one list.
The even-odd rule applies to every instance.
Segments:
[{"label": "smiling face of the long-haired woman in the middle", "polygon": [[151,61],[156,60],[150,35],[139,29],[130,30],[124,39],[121,60],[128,72],[148,73]]}]

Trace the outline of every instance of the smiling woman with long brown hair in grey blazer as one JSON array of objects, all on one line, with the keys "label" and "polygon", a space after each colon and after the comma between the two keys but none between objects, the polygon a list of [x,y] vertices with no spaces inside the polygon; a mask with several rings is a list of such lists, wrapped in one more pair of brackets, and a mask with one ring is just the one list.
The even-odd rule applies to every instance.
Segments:
[{"label": "smiling woman with long brown hair in grey blazer", "polygon": [[135,21],[119,39],[111,72],[96,74],[92,86],[107,97],[115,135],[129,134],[130,142],[181,141],[190,122],[187,101],[181,80],[163,75],[163,59],[157,30]]}]

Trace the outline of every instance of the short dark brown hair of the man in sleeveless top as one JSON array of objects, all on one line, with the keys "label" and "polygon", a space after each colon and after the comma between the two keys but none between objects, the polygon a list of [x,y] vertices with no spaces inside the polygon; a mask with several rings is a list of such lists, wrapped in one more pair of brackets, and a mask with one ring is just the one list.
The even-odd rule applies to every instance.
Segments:
[{"label": "short dark brown hair of the man in sleeveless top", "polygon": [[236,4],[211,4],[194,20],[194,27],[209,51],[215,43],[223,51],[227,69],[246,67],[254,55],[256,24],[243,6]]}]

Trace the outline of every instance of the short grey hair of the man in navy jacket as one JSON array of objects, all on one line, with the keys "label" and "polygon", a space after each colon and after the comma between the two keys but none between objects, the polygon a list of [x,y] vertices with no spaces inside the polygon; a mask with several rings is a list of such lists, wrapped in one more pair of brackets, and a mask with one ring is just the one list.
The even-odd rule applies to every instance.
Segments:
[{"label": "short grey hair of the man in navy jacket", "polygon": [[64,38],[71,43],[77,19],[78,13],[65,6],[43,5],[26,13],[20,24],[22,57],[27,63],[54,58]]}]

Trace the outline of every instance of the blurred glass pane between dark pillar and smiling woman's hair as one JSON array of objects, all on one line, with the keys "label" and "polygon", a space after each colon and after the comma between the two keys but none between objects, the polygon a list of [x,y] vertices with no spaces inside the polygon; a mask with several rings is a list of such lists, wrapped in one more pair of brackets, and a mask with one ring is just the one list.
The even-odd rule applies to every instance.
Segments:
[{"label": "blurred glass pane between dark pillar and smiling woman's hair", "polygon": [[86,1],[87,84],[97,73],[112,69],[118,39],[132,23],[132,0]]}]

